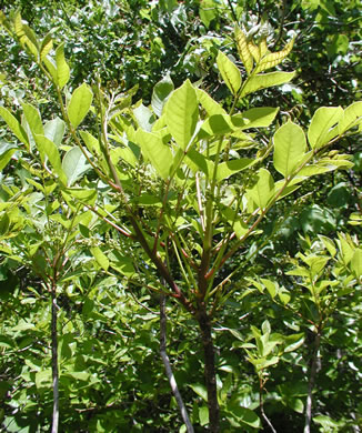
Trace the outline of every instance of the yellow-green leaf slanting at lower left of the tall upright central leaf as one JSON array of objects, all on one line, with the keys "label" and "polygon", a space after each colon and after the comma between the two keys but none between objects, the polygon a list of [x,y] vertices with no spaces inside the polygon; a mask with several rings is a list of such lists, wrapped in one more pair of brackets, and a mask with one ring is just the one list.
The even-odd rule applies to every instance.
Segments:
[{"label": "yellow-green leaf slanting at lower left of the tall upright central leaf", "polygon": [[135,133],[137,143],[140,145],[143,155],[151,162],[162,179],[167,179],[172,165],[172,153],[162,139],[152,133],[139,129]]}]

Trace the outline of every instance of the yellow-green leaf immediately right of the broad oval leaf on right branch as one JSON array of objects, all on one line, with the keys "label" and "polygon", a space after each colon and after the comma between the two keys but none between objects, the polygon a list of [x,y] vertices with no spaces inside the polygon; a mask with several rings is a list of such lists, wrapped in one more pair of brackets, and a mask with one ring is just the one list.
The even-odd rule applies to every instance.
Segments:
[{"label": "yellow-green leaf immediately right of the broad oval leaf on right branch", "polygon": [[342,115],[341,107],[321,107],[315,111],[308,129],[308,140],[312,149],[321,148],[338,135],[339,129],[335,125]]}]

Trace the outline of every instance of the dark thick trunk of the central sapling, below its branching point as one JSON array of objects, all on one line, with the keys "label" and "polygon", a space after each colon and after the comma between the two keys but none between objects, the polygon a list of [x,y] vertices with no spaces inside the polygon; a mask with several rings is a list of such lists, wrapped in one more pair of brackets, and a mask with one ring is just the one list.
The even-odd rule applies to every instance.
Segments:
[{"label": "dark thick trunk of the central sapling, below its branching point", "polygon": [[209,431],[211,433],[219,433],[219,417],[220,409],[218,402],[218,389],[217,389],[217,370],[214,346],[211,334],[211,323],[208,316],[204,304],[199,304],[197,320],[201,331],[203,354],[204,354],[204,376],[205,385],[208,390],[208,407],[209,407]]}]

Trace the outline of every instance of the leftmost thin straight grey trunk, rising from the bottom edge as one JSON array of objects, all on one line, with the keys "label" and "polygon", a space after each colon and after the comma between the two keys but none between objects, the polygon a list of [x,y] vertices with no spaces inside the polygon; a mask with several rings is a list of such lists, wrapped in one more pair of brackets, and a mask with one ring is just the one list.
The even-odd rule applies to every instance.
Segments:
[{"label": "leftmost thin straight grey trunk, rising from the bottom edge", "polygon": [[57,285],[51,286],[51,366],[53,379],[53,416],[51,433],[58,433],[59,426],[59,371],[58,371],[58,334],[57,334]]}]

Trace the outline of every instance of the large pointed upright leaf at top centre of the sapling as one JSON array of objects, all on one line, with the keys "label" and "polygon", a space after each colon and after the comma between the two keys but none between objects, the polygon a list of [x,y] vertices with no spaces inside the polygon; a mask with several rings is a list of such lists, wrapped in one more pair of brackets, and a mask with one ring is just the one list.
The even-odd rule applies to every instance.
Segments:
[{"label": "large pointed upright leaf at top centre of the sapling", "polygon": [[197,92],[189,80],[171,94],[164,113],[171,135],[179,147],[185,150],[199,119]]}]

